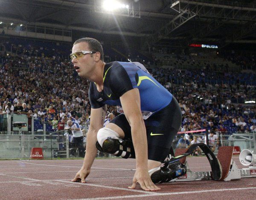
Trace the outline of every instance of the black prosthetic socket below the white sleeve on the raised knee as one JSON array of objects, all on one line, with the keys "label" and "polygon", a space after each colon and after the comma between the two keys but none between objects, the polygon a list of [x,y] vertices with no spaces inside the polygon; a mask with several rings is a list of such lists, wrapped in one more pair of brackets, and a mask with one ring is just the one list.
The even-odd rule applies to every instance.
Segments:
[{"label": "black prosthetic socket below the white sleeve on the raised knee", "polygon": [[102,147],[97,141],[96,148],[103,153],[114,154],[117,157],[122,156],[122,153],[125,152],[122,158],[135,158],[134,146],[130,140],[108,138],[105,139]]}]

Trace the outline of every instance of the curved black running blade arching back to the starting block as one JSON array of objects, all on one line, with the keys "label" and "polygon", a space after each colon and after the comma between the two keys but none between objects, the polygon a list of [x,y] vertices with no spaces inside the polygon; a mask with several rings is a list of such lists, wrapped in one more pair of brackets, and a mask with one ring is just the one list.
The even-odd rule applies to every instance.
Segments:
[{"label": "curved black running blade arching back to the starting block", "polygon": [[195,149],[197,147],[200,147],[201,150],[204,152],[204,154],[206,155],[210,165],[211,165],[211,169],[212,169],[212,179],[213,180],[220,180],[222,177],[222,167],[220,162],[218,161],[218,158],[215,156],[215,154],[213,154],[212,150],[204,143],[198,143],[198,144],[193,144],[189,147],[189,149],[186,151],[186,153],[181,154],[179,156],[176,156],[172,159],[170,159],[169,161],[165,161],[165,163],[167,164],[171,164],[174,162],[177,162],[178,160],[180,160],[183,157],[187,157],[190,154],[192,154]]}]

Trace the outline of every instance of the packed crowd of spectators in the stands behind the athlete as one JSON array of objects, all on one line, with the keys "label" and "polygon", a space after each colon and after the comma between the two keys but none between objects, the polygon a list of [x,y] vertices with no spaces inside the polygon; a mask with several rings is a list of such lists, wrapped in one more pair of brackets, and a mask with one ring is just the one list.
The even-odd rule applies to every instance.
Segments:
[{"label": "packed crowd of spectators in the stands behind the athlete", "polygon": [[[38,124],[35,130],[44,123],[48,131],[63,130],[68,119],[86,130],[90,124],[89,80],[77,75],[70,60],[62,55],[65,51],[58,46],[47,53],[40,46],[10,45],[15,54],[0,56],[0,114],[33,116]],[[149,71],[179,101],[181,131],[256,131],[256,107],[244,104],[256,97],[255,74],[209,69]],[[118,115],[116,107],[108,107],[107,113]],[[113,117],[107,114],[106,120],[108,116]]]}]

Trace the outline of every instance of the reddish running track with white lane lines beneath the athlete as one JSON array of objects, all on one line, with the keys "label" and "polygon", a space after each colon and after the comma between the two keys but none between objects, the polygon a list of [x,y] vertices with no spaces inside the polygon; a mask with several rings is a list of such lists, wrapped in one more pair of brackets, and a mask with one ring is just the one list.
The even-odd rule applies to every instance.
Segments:
[{"label": "reddish running track with white lane lines beneath the athlete", "polygon": [[[206,157],[187,158],[192,171],[210,171]],[[239,158],[233,157],[239,168]],[[65,199],[255,199],[255,178],[158,184],[157,192],[129,189],[134,159],[96,159],[87,183],[70,182],[83,160],[0,161],[1,200]]]}]

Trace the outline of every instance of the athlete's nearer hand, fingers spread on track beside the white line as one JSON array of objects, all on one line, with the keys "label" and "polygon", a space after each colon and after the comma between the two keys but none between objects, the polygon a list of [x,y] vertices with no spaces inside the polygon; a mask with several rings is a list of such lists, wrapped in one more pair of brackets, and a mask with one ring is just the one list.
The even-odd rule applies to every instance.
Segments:
[{"label": "athlete's nearer hand, fingers spread on track beside the white line", "polygon": [[136,172],[134,174],[132,186],[129,186],[128,188],[134,189],[136,188],[136,184],[140,183],[140,187],[145,191],[157,191],[161,188],[158,188],[151,180],[148,171],[145,169],[137,168]]}]

